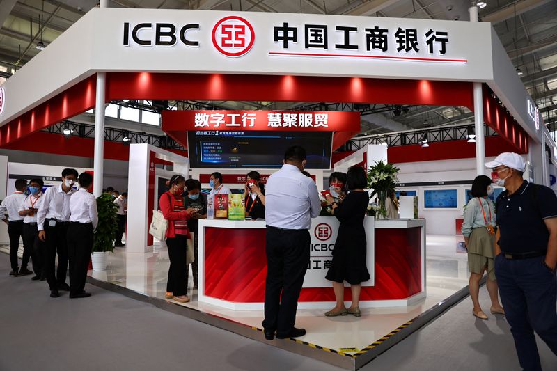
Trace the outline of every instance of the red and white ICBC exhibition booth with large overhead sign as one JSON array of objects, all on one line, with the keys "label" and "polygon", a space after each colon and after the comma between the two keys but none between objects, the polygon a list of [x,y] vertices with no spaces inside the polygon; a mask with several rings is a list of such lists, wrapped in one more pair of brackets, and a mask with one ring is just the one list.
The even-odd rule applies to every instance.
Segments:
[{"label": "red and white ICBC exhibition booth with large overhead sign", "polygon": [[[78,47],[81,52],[74,54]],[[63,58],[70,53],[72,58]],[[554,158],[553,150],[546,151],[555,145],[540,113],[496,33],[483,22],[99,8],[0,90],[0,145],[96,107],[96,176],[102,175],[104,104],[124,99],[464,106],[478,122],[473,174],[485,172],[484,122],[526,157],[536,182],[547,184]],[[358,133],[359,125],[359,113],[347,111],[164,111],[162,129],[187,148],[189,157],[130,145],[127,246],[111,257],[106,272],[92,273],[92,282],[262,340],[265,221],[201,221],[200,258],[194,263],[198,290],[191,303],[170,303],[162,299],[166,248],[148,235],[157,198],[172,173],[197,178],[207,188],[210,173],[221,171],[237,193],[248,171],[264,177],[276,171],[292,143],[308,147],[308,171],[321,190],[332,168],[367,168],[372,161],[389,160],[387,148],[379,145],[333,163],[332,152]],[[420,212],[432,208],[428,205],[452,210],[465,202],[466,184],[453,191],[445,187],[450,184],[421,183],[399,184],[416,191]],[[466,272],[459,265],[452,281],[430,275],[426,222],[411,216],[366,218],[372,278],[362,288],[363,320],[322,315],[334,301],[324,274],[338,221],[314,219],[297,322],[308,334],[272,344],[359,368],[386,349],[386,339],[400,341],[409,324],[421,326],[462,298]],[[432,268],[440,272],[444,265],[432,263]]]}]

